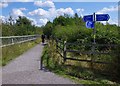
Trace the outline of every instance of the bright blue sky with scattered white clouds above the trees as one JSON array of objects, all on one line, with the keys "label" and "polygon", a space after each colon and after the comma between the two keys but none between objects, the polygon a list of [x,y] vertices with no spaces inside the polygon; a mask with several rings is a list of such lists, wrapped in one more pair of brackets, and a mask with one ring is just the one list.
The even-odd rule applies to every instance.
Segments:
[{"label": "bright blue sky with scattered white clouds above the trees", "polygon": [[[89,2],[88,2],[89,1]],[[94,0],[95,1],[95,0]],[[102,1],[102,0],[101,0]],[[118,25],[118,1],[109,0],[107,2],[93,2],[93,0],[2,0],[0,3],[0,19],[7,20],[11,15],[13,19],[18,16],[25,16],[36,26],[45,25],[48,21],[64,14],[71,17],[77,13],[83,17],[85,15],[109,14],[108,23]],[[101,22],[106,23],[106,21]]]}]

